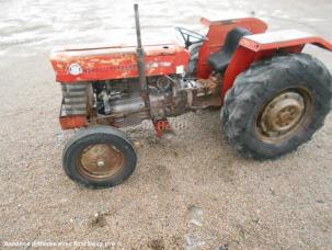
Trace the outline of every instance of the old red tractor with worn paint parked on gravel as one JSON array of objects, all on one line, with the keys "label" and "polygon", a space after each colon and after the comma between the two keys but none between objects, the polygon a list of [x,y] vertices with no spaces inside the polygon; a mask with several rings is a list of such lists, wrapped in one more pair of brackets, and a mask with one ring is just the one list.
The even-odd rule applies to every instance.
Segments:
[{"label": "old red tractor with worn paint parked on gravel", "polygon": [[206,35],[176,27],[179,44],[62,47],[51,53],[62,88],[60,125],[79,129],[67,143],[68,177],[89,188],[114,186],[136,167],[135,147],[118,127],[151,120],[158,136],[168,117],[221,106],[229,144],[245,157],[277,158],[310,140],[331,107],[332,77],[302,54],[306,44],[332,50],[307,33],[266,32],[259,19],[209,21]]}]

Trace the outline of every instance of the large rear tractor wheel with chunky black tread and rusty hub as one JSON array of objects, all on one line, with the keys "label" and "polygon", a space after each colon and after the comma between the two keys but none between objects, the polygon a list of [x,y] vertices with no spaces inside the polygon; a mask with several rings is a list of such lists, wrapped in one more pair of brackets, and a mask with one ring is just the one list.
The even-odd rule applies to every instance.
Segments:
[{"label": "large rear tractor wheel with chunky black tread and rusty hub", "polygon": [[227,92],[221,124],[241,155],[273,159],[311,139],[331,109],[332,77],[317,59],[287,54],[255,63]]}]

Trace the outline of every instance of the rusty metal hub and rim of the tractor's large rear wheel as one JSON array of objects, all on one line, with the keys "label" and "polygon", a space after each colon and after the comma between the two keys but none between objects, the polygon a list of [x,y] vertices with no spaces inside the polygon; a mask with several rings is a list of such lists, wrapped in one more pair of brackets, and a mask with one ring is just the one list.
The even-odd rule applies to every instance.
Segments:
[{"label": "rusty metal hub and rim of the tractor's large rear wheel", "polygon": [[278,94],[265,105],[257,121],[261,133],[270,138],[291,134],[306,114],[306,100],[295,91]]}]

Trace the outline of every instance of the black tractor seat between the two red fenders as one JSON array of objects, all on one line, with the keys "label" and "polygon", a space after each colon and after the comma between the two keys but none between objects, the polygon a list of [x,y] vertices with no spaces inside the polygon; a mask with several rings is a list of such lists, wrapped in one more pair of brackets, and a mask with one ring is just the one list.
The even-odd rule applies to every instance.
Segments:
[{"label": "black tractor seat between the two red fenders", "polygon": [[230,59],[240,43],[240,39],[243,36],[251,34],[252,33],[244,27],[234,27],[228,32],[222,48],[208,57],[209,66],[217,72],[224,72],[229,65]]}]

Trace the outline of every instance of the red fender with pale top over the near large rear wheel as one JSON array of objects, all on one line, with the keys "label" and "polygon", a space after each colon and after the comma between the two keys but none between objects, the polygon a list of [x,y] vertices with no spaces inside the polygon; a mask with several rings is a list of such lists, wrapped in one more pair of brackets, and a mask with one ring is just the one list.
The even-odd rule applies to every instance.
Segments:
[{"label": "red fender with pale top over the near large rear wheel", "polygon": [[273,56],[276,52],[301,53],[306,44],[332,52],[332,44],[322,37],[297,30],[267,32],[244,36],[233,54],[224,76],[221,100],[232,87],[236,78],[257,60]]}]

